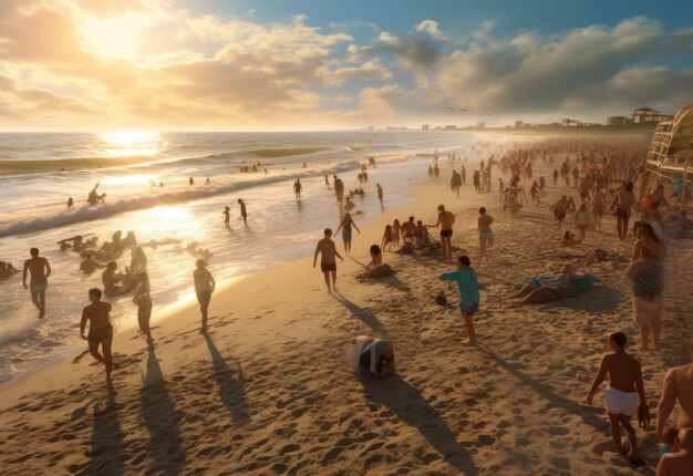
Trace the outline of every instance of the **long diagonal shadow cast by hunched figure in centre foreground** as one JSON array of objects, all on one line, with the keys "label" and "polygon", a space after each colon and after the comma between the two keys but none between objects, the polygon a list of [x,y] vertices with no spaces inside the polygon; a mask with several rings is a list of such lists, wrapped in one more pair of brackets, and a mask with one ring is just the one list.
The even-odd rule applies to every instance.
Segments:
[{"label": "long diagonal shadow cast by hunched figure in centre foreground", "polygon": [[451,466],[465,475],[478,474],[472,455],[457,442],[445,420],[408,382],[394,375],[382,380],[364,377],[361,383],[369,401],[385,405],[418,430]]}]

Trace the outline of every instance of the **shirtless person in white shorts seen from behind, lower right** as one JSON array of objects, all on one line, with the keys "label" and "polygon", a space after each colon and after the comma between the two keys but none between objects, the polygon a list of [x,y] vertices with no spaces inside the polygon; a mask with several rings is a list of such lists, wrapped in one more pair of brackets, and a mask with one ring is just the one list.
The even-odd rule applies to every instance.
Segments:
[{"label": "shirtless person in white shorts seen from behind, lower right", "polygon": [[638,413],[638,397],[640,397],[640,405],[644,405],[644,411],[649,412],[649,410],[647,407],[648,403],[642,383],[640,362],[625,353],[625,343],[627,339],[623,332],[613,332],[609,335],[609,346],[613,352],[601,358],[599,372],[587,395],[587,404],[592,406],[594,393],[607,376],[607,373],[609,373],[609,386],[604,391],[604,406],[609,413],[611,437],[613,438],[617,453],[625,456],[621,445],[619,423],[623,425],[630,443],[628,457],[634,458],[638,456],[638,438],[635,428],[633,428],[630,421]]}]

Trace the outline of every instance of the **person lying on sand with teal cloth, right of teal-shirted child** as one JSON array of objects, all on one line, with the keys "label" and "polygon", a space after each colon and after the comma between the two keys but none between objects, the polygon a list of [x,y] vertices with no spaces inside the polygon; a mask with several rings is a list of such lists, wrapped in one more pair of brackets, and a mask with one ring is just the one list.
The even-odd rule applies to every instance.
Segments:
[{"label": "person lying on sand with teal cloth, right of teal-shirted child", "polygon": [[575,298],[596,282],[601,282],[600,278],[592,275],[576,275],[572,266],[566,265],[560,272],[547,272],[526,279],[521,289],[509,296],[510,306],[540,304],[563,298]]}]

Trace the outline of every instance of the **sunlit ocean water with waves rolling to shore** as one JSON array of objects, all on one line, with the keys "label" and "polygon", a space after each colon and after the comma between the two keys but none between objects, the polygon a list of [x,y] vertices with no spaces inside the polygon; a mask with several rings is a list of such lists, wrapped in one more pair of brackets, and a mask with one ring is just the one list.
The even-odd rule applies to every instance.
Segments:
[{"label": "sunlit ocean water with waves rolling to shore", "polygon": [[[116,230],[135,231],[148,258],[156,321],[157,309],[193,291],[195,257],[187,244],[210,250],[217,280],[310,256],[321,230],[337,228],[340,218],[325,174],[330,182],[337,174],[346,190],[365,189],[365,197],[354,198],[354,218],[368,225],[407,203],[407,188],[424,179],[436,149],[472,156],[474,142],[468,134],[437,132],[0,134],[0,260],[21,269],[35,246],[53,269],[43,320],[37,319],[21,273],[0,281],[0,382],[84,345],[81,309],[89,303],[87,289],[102,287],[101,271],[82,273],[80,257],[60,251],[60,239],[83,235],[101,244]],[[359,184],[360,166],[371,156],[377,165],[369,168],[369,182]],[[258,163],[258,172],[240,172]],[[296,178],[304,188],[300,203],[292,193]],[[376,183],[385,190],[384,209]],[[105,204],[89,206],[96,184]],[[69,197],[75,204],[71,210]],[[247,227],[238,198],[247,204]],[[225,206],[231,208],[231,230],[224,228]],[[180,244],[147,247],[153,239]],[[356,236],[354,252],[363,248],[364,255],[370,245]],[[130,252],[117,261],[122,270]],[[131,296],[114,300],[113,309],[116,329],[136,325]]]}]

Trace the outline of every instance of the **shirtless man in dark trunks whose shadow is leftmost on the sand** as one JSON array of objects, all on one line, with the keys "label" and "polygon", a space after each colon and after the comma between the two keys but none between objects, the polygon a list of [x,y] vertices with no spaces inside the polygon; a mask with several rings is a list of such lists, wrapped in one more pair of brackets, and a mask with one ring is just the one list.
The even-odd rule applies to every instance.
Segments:
[{"label": "shirtless man in dark trunks whose shadow is leftmost on the sand", "polygon": [[[80,322],[80,335],[89,342],[89,351],[94,359],[106,366],[106,379],[111,380],[113,358],[111,356],[111,344],[113,343],[113,327],[111,325],[110,313],[111,303],[101,300],[101,289],[89,290],[91,304],[82,311],[82,322]],[[84,334],[89,321],[89,335]],[[103,355],[99,353],[99,345]]]}]

